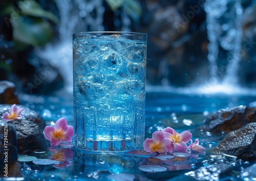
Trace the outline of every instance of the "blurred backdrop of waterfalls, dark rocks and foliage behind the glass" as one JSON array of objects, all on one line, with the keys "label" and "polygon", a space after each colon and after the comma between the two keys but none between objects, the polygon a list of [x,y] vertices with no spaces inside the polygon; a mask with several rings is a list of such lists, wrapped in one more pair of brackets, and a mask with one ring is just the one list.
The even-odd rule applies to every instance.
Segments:
[{"label": "blurred backdrop of waterfalls, dark rocks and foliage behind the glass", "polygon": [[256,88],[253,0],[1,0],[0,17],[0,80],[18,92],[72,93],[84,31],[146,33],[148,91]]}]

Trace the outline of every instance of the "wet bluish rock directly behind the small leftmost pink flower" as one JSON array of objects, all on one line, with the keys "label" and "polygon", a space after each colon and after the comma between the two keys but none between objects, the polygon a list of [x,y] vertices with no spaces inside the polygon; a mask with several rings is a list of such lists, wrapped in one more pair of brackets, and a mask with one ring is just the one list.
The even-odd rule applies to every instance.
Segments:
[{"label": "wet bluish rock directly behind the small leftmost pink flower", "polygon": [[[0,121],[3,121],[2,117],[4,116],[5,112],[9,112],[11,109],[11,104],[0,104]],[[16,105],[17,108],[24,108],[22,113],[23,119],[31,121],[32,123],[35,123],[41,130],[44,130],[46,127],[45,121],[42,119],[42,117],[37,114],[36,111],[31,110],[30,108],[23,106],[23,105]]]}]

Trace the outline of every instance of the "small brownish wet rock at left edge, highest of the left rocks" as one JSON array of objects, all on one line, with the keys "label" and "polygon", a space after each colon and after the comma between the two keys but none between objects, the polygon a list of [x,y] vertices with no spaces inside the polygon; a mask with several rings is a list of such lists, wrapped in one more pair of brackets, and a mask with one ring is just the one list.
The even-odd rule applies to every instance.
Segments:
[{"label": "small brownish wet rock at left edge, highest of the left rocks", "polygon": [[6,80],[0,81],[0,104],[19,104],[14,83]]}]

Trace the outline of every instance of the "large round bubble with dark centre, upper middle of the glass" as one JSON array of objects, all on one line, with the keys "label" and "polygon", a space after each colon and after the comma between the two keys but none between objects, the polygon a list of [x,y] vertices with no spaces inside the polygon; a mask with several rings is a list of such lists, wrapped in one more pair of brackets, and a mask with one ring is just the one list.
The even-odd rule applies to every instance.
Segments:
[{"label": "large round bubble with dark centre, upper middle of the glass", "polygon": [[121,57],[115,52],[104,53],[99,57],[99,61],[105,75],[117,74],[122,65]]}]

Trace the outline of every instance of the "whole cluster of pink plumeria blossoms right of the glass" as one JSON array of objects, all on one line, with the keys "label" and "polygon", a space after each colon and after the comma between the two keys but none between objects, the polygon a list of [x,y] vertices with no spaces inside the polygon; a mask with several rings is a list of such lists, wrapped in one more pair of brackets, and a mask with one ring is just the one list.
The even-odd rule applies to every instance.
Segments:
[{"label": "whole cluster of pink plumeria blossoms right of the glass", "polygon": [[[195,143],[193,143],[191,137],[192,133],[190,131],[182,131],[181,133],[178,133],[173,128],[167,127],[162,131],[153,132],[152,139],[147,138],[144,141],[143,148],[152,155],[172,151],[187,152],[188,149],[204,154],[205,148],[199,145],[199,140],[196,139]],[[187,146],[189,141],[190,145]]]}]

